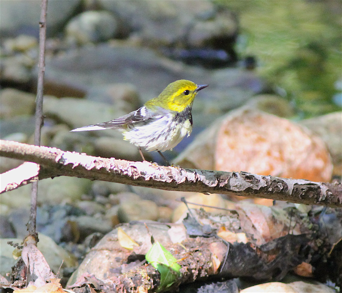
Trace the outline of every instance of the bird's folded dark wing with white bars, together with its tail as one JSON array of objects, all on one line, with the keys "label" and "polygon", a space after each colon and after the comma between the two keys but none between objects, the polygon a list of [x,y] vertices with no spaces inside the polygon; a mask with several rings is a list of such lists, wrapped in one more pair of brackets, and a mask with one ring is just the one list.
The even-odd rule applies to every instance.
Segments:
[{"label": "bird's folded dark wing with white bars, together with its tail", "polygon": [[103,123],[87,125],[80,128],[73,129],[71,131],[87,131],[87,130],[101,130],[106,128],[116,128],[117,126],[124,126],[128,124],[134,124],[137,122],[142,122],[150,118],[158,118],[161,113],[156,113],[148,110],[145,106],[140,107],[139,109],[132,111],[126,115],[118,117],[114,120],[110,120]]}]

